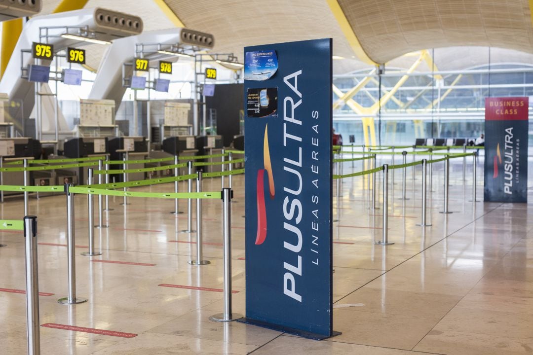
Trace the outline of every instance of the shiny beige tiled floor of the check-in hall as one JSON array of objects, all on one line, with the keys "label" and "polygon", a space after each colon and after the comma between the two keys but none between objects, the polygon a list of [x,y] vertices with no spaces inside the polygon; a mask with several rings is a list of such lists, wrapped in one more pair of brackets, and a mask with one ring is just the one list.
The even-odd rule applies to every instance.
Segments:
[{"label": "shiny beige tiled floor of the check-in hall", "polygon": [[[388,162],[389,159],[387,158]],[[344,171],[351,171],[346,163]],[[479,167],[482,167],[480,162]],[[219,292],[161,287],[179,284],[222,288],[221,205],[204,202],[204,256],[207,266],[187,263],[195,234],[175,233],[187,217],[169,214],[173,201],[131,199],[126,208],[111,198],[110,227],[95,229],[99,257],[79,255],[77,294],[87,303],[62,306],[67,292],[66,247],[39,245],[41,324],[59,323],[138,334],[108,335],[41,328],[43,354],[368,354],[449,355],[533,353],[533,211],[526,204],[482,203],[471,199],[470,164],[461,179],[461,160],[452,164],[451,214],[442,209],[442,167],[434,167],[428,210],[431,227],[419,222],[421,179],[407,174],[409,200],[399,200],[401,174],[390,196],[389,240],[382,237],[381,209],[368,209],[366,179],[345,180],[340,221],[334,224],[334,302],[362,304],[334,309],[334,327],[343,334],[317,342],[242,323],[208,320],[222,310]],[[356,170],[360,169],[356,164]],[[478,172],[480,172],[479,169]],[[481,175],[479,175],[481,176]],[[381,177],[380,177],[381,179]],[[234,180],[233,309],[245,312],[244,195],[242,176]],[[381,181],[378,179],[381,188]],[[183,186],[180,186],[182,188]],[[205,180],[204,191],[220,189]],[[171,191],[170,185],[140,188]],[[478,200],[482,199],[482,179]],[[64,196],[31,199],[41,243],[66,244]],[[336,207],[336,203],[334,203]],[[380,206],[381,207],[381,206]],[[181,203],[180,209],[185,208]],[[334,209],[335,213],[337,209]],[[0,204],[3,219],[18,219],[22,201]],[[76,244],[87,245],[86,196],[76,196]],[[405,217],[404,217],[405,216]],[[125,230],[127,229],[127,230]],[[138,229],[138,230],[135,230]],[[177,241],[177,242],[176,242]],[[0,232],[0,288],[25,288],[23,237]],[[133,266],[91,259],[152,263]],[[0,292],[0,354],[26,352],[25,296]]]}]

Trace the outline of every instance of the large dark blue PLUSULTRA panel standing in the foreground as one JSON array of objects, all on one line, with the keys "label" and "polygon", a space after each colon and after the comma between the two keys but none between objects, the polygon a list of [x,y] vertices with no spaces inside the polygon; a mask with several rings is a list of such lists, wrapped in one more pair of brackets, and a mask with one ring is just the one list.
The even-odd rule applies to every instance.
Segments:
[{"label": "large dark blue PLUSULTRA panel standing in the foreground", "polygon": [[245,323],[333,336],[332,39],[245,47],[274,53],[244,83]]}]

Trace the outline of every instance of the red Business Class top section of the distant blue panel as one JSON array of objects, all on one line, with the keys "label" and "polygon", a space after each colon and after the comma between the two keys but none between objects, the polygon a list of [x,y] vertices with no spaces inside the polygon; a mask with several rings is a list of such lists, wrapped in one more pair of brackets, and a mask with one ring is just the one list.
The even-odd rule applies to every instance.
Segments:
[{"label": "red Business Class top section of the distant blue panel", "polygon": [[487,97],[485,119],[488,121],[527,120],[528,97]]}]

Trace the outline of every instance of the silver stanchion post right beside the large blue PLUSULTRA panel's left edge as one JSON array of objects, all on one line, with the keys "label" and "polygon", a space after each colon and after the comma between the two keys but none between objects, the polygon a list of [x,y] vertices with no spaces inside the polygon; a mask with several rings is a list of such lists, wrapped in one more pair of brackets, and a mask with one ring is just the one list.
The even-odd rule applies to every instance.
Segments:
[{"label": "silver stanchion post right beside the large blue PLUSULTRA panel's left edge", "polygon": [[[231,175],[230,175],[231,176]],[[213,321],[228,322],[243,318],[243,315],[232,312],[231,302],[231,188],[222,189],[222,230],[224,233],[224,312],[209,317]]]}]

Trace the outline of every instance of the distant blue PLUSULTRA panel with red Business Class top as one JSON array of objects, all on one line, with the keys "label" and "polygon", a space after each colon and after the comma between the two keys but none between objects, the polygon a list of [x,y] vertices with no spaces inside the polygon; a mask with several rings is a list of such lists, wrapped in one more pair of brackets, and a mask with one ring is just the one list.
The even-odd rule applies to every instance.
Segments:
[{"label": "distant blue PLUSULTRA panel with red Business Class top", "polygon": [[484,201],[528,201],[528,97],[485,99]]}]

